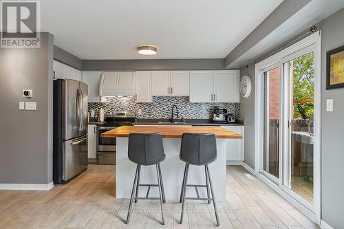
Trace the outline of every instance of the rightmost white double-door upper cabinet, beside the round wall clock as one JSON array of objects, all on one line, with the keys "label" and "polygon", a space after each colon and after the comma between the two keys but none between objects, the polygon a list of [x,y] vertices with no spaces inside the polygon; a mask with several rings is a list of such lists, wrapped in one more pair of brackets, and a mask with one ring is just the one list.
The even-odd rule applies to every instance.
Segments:
[{"label": "rightmost white double-door upper cabinet, beside the round wall clock", "polygon": [[190,102],[239,102],[238,71],[191,71]]}]

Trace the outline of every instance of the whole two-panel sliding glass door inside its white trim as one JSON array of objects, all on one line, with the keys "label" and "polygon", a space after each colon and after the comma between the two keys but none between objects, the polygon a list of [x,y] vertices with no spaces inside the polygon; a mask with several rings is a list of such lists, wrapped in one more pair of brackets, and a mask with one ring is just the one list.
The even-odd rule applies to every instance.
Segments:
[{"label": "whole two-panel sliding glass door inside its white trim", "polygon": [[314,142],[319,139],[314,136],[314,71],[314,46],[261,69],[264,111],[259,111],[264,135],[259,172],[312,211]]}]

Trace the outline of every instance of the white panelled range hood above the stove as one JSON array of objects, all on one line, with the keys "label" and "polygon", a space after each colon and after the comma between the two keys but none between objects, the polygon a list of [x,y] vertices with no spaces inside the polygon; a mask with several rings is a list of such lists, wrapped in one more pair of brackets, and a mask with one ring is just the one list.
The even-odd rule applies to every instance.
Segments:
[{"label": "white panelled range hood above the stove", "polygon": [[135,72],[102,72],[100,96],[134,96]]}]

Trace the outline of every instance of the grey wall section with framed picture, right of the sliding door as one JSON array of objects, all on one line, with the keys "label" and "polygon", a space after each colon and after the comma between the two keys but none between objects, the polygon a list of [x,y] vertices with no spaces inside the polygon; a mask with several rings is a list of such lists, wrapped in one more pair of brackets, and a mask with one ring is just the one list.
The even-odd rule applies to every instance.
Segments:
[{"label": "grey wall section with framed picture, right of the sliding door", "polygon": [[[319,23],[321,39],[321,173],[322,217],[332,228],[343,228],[344,88],[325,90],[326,52],[344,45],[344,8]],[[334,111],[326,111],[326,99]]]}]

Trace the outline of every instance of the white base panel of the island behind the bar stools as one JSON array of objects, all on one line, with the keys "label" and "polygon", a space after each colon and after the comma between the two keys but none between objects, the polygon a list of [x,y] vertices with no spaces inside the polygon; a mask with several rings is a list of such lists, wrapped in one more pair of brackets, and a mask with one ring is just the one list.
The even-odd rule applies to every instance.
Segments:
[{"label": "white base panel of the island behind the bar stools", "polygon": [[[130,198],[136,164],[128,158],[128,138],[116,138],[116,198]],[[185,163],[179,159],[181,138],[163,138],[166,159],[160,163],[164,192],[167,200],[179,201]],[[226,200],[226,139],[217,138],[217,160],[209,164],[217,201]],[[205,185],[204,166],[189,167],[188,184]],[[140,184],[158,184],[155,165],[142,166]],[[147,195],[148,187],[140,187],[139,197]],[[206,188],[198,187],[200,197],[206,197]],[[151,187],[149,197],[158,197],[159,190]],[[195,188],[186,188],[186,197],[197,197]]]}]

